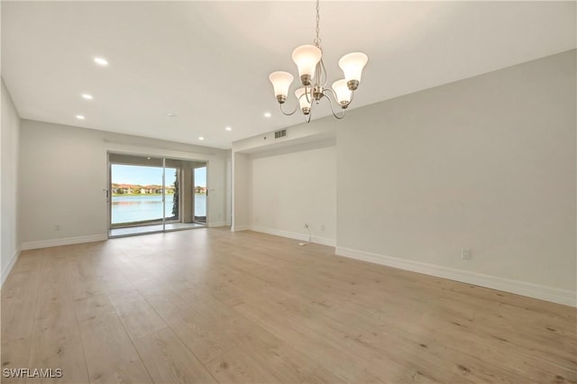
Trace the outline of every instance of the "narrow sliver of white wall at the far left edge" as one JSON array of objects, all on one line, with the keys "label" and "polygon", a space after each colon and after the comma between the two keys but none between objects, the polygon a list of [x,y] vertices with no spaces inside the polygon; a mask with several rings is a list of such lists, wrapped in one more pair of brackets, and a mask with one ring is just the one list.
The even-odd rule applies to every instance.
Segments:
[{"label": "narrow sliver of white wall at the far left edge", "polygon": [[18,233],[18,142],[20,135],[20,117],[14,108],[14,103],[2,80],[2,131],[0,145],[2,155],[0,169],[2,185],[0,200],[2,201],[2,219],[0,228],[0,270],[2,270],[2,284],[12,270],[14,262],[20,252],[20,238]]}]

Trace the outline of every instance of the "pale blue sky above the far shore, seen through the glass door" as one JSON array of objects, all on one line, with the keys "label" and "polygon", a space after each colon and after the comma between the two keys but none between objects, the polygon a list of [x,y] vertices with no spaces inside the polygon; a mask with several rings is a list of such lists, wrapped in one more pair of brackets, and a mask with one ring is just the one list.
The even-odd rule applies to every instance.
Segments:
[{"label": "pale blue sky above the far shore, seen through the glass door", "polygon": [[[117,184],[162,185],[162,169],[134,165],[112,164],[112,182]],[[174,169],[166,169],[166,184],[174,183]],[[206,168],[197,169],[195,187],[206,187]]]}]

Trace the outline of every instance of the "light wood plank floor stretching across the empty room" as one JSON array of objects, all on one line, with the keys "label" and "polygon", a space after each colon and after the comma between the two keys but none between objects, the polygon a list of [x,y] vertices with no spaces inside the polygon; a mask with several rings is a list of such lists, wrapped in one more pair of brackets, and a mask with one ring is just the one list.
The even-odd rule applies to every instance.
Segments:
[{"label": "light wood plank floor stretching across the empty room", "polygon": [[33,383],[575,383],[575,312],[197,229],[23,251],[2,367],[63,370]]}]

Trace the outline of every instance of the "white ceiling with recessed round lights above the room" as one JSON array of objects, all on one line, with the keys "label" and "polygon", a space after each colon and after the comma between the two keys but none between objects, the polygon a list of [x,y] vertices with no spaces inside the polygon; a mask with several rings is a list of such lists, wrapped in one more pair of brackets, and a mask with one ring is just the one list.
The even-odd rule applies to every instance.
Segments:
[{"label": "white ceiling with recessed round lights above the room", "polygon": [[[322,1],[329,81],[366,52],[358,107],[571,50],[575,5]],[[268,76],[296,74],[290,53],[314,37],[313,1],[2,1],[2,77],[23,118],[230,148],[303,121],[279,113]]]}]

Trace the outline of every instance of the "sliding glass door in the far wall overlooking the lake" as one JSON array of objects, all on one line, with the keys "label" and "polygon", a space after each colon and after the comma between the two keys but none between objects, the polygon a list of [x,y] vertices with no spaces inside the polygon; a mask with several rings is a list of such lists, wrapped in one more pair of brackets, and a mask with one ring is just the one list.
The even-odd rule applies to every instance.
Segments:
[{"label": "sliding glass door in the far wall overlooking the lake", "polygon": [[206,206],[204,221],[196,220],[193,187],[194,169],[206,161],[110,152],[108,164],[110,237],[206,225]]}]

